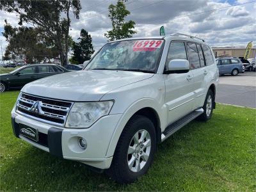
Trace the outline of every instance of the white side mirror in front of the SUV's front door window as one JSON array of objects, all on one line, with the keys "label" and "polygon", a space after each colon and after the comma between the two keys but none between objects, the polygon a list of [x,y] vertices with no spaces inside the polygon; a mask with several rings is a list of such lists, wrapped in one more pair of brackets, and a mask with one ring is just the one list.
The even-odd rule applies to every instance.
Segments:
[{"label": "white side mirror in front of the SUV's front door window", "polygon": [[189,72],[188,60],[172,60],[168,64],[167,74],[183,74]]}]

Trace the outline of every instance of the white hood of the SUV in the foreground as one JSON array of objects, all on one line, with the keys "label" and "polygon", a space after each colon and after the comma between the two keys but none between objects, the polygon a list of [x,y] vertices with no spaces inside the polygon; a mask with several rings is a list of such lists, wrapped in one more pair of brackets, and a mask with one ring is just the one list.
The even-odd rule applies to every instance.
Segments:
[{"label": "white hood of the SUV in the foreground", "polygon": [[111,90],[152,76],[154,74],[120,70],[80,70],[38,79],[26,84],[21,91],[53,99],[97,101]]}]

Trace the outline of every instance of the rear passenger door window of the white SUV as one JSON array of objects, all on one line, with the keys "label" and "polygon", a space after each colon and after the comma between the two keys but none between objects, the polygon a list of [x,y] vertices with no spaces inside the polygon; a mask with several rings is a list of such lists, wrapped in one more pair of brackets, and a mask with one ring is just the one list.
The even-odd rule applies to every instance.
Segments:
[{"label": "rear passenger door window of the white SUV", "polygon": [[200,58],[196,44],[187,43],[187,45],[190,68],[200,68]]}]

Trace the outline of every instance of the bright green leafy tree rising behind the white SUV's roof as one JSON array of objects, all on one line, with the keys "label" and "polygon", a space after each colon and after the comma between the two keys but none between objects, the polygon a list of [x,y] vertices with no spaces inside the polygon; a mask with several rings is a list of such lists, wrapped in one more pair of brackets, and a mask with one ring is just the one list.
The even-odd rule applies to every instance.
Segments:
[{"label": "bright green leafy tree rising behind the white SUV's roof", "polygon": [[118,0],[116,5],[110,4],[108,7],[108,17],[111,19],[113,29],[107,31],[104,35],[111,41],[129,38],[136,33],[136,31],[133,30],[135,22],[132,20],[125,22],[125,17],[127,17],[130,12],[126,10],[124,2],[125,0]]}]

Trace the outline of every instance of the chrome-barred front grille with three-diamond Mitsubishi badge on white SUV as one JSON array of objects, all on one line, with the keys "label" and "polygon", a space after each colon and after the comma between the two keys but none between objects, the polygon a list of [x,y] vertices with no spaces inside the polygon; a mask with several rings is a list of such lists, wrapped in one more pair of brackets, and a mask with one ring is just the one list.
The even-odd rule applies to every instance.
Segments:
[{"label": "chrome-barred front grille with three-diamond Mitsubishi badge on white SUV", "polygon": [[17,110],[26,115],[40,118],[51,124],[65,124],[72,102],[45,99],[22,93],[18,98]]}]

